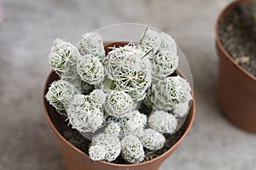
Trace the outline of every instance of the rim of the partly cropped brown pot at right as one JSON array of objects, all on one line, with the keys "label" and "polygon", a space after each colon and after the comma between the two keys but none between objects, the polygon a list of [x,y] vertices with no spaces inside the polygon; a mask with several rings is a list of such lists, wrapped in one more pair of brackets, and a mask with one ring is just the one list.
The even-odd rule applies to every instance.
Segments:
[{"label": "rim of the partly cropped brown pot at right", "polygon": [[235,8],[238,4],[241,3],[251,3],[252,0],[236,0],[232,3],[230,3],[228,6],[226,6],[221,13],[218,15],[218,20],[215,25],[215,41],[217,44],[217,47],[221,50],[221,52],[224,54],[224,56],[230,60],[230,62],[238,68],[243,74],[245,74],[247,77],[252,79],[254,82],[256,82],[256,77],[254,77],[251,73],[246,71],[241,65],[236,64],[235,59],[233,59],[230,54],[226,51],[226,49],[223,47],[222,43],[220,42],[220,39],[218,37],[218,26],[219,21],[224,19],[224,15],[227,14],[231,9]]}]

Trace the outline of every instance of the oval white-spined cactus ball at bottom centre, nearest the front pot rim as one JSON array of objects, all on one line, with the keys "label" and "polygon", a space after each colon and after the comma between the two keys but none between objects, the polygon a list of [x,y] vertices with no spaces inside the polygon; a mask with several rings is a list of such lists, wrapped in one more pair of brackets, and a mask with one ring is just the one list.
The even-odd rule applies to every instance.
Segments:
[{"label": "oval white-spined cactus ball at bottom centre, nearest the front pot rim", "polygon": [[121,140],[121,153],[129,163],[139,163],[144,159],[143,144],[133,135],[125,136]]}]

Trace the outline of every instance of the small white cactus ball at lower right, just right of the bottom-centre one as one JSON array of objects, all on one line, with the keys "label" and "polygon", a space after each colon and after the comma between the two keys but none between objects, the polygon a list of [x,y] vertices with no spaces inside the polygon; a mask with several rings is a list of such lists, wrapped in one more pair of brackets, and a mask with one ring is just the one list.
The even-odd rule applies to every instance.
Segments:
[{"label": "small white cactus ball at lower right, just right of the bottom-centre one", "polygon": [[140,140],[143,143],[143,147],[148,150],[160,150],[166,142],[164,135],[151,128],[144,130],[143,136]]}]

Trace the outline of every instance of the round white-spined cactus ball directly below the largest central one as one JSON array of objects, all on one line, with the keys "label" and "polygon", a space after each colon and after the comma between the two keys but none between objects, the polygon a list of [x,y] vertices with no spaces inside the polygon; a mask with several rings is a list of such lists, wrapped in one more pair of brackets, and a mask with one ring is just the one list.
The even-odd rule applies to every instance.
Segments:
[{"label": "round white-spined cactus ball directly below the largest central one", "polygon": [[108,115],[124,117],[131,111],[132,99],[129,94],[125,94],[123,91],[113,90],[108,94],[108,98],[104,106]]}]

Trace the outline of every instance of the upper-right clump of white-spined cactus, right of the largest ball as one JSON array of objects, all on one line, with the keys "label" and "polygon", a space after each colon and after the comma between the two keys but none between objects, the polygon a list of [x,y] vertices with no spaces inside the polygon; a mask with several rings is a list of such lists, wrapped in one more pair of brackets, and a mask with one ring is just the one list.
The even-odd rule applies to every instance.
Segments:
[{"label": "upper-right clump of white-spined cactus, right of the largest ball", "polygon": [[163,80],[177,69],[177,44],[169,35],[147,29],[140,42],[140,48],[149,53],[154,82]]}]

